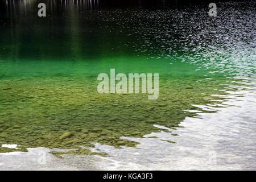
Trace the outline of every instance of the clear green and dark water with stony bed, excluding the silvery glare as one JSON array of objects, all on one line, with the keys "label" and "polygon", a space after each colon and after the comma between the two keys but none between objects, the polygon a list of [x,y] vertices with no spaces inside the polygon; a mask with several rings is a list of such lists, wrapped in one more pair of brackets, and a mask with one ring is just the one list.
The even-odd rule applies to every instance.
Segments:
[{"label": "clear green and dark water with stony bed, excluding the silvery glare", "polygon": [[[233,76],[254,75],[253,14],[240,17],[247,20],[245,38],[242,23],[223,23],[225,15],[210,19],[200,8],[192,17],[189,9],[81,12],[71,6],[45,19],[22,8],[3,19],[0,30],[0,144],[18,144],[19,151],[47,147],[94,154],[81,146],[96,142],[136,147],[120,137],[160,130],[153,125],[179,127],[185,117],[196,117],[185,110],[206,112],[192,105],[221,102],[212,95],[232,90],[227,81]],[[240,34],[226,32],[232,28]],[[246,64],[233,59],[237,52],[245,52]],[[159,73],[158,100],[98,94],[97,76],[111,68]]]}]

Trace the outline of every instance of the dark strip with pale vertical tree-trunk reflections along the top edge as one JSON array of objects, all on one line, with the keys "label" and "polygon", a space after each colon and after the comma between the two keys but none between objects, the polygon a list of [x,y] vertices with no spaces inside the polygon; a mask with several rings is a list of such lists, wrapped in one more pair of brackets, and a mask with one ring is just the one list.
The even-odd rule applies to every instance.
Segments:
[{"label": "dark strip with pale vertical tree-trunk reflections along the top edge", "polygon": [[[61,9],[69,9],[71,6],[76,6],[79,10],[98,10],[105,7],[168,7],[177,6],[178,4],[194,3],[197,0],[0,0],[0,9],[7,11],[14,11],[16,7],[22,9],[23,11],[31,10],[31,8],[36,8],[38,3],[46,3],[47,7],[51,10],[53,8],[59,7]],[[18,5],[18,6],[17,6]]]}]

